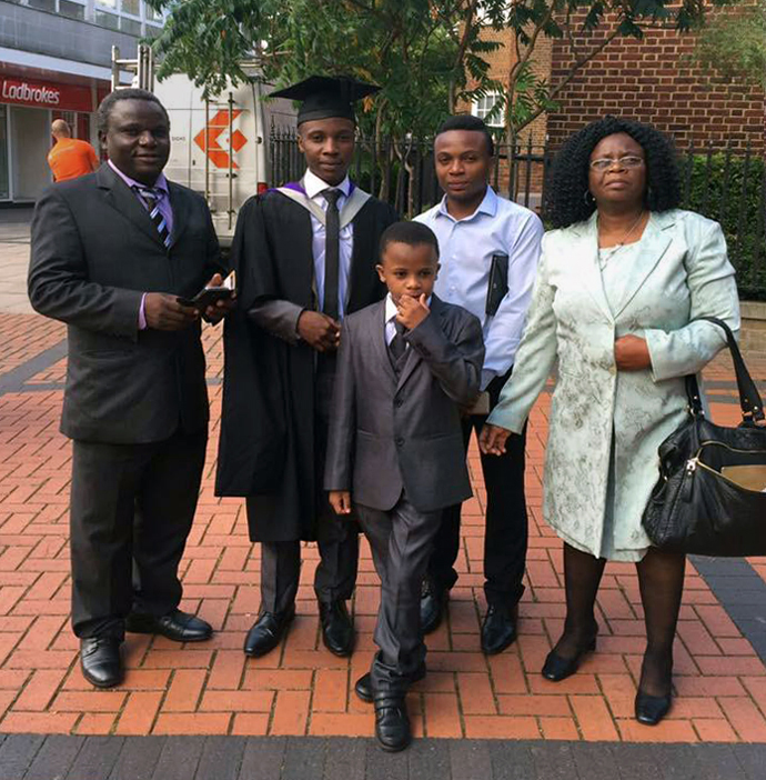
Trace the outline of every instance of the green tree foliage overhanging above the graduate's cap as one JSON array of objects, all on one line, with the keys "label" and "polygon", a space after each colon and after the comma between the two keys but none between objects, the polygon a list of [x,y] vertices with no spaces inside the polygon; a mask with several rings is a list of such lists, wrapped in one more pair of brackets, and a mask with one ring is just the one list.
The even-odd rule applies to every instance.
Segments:
[{"label": "green tree foliage overhanging above the graduate's cap", "polygon": [[[641,39],[652,26],[688,30],[704,20],[707,0],[149,1],[169,11],[154,43],[160,76],[183,71],[218,90],[255,54],[280,84],[318,72],[366,79],[383,86],[362,112],[363,129],[377,136],[427,132],[462,100],[498,92],[513,139],[615,38]],[[510,32],[507,78],[490,76],[487,56],[503,43],[487,30]],[[572,53],[556,83],[535,68],[546,38],[564,39]]]}]

